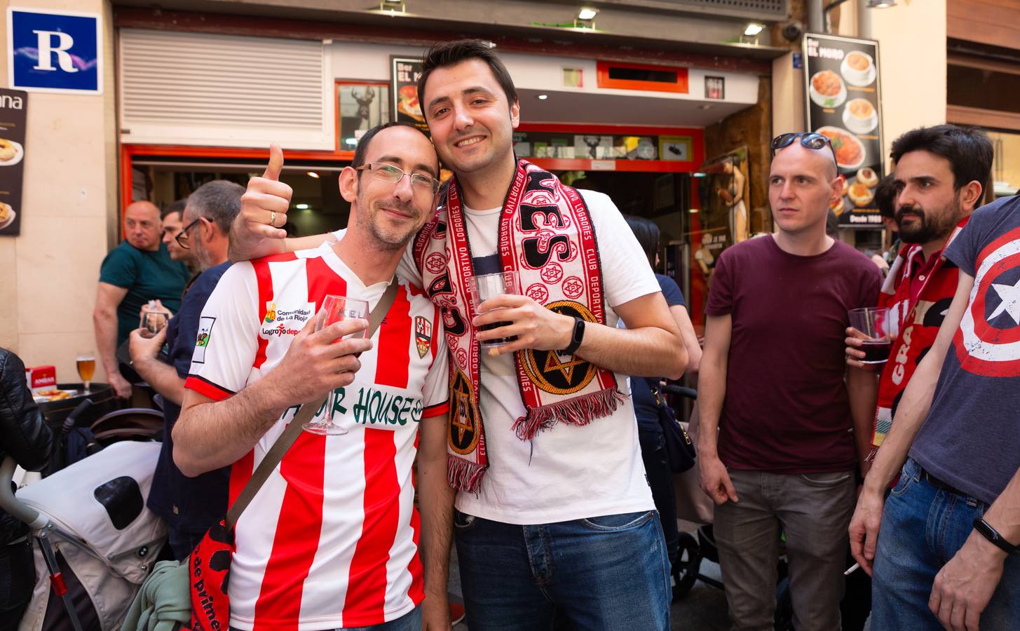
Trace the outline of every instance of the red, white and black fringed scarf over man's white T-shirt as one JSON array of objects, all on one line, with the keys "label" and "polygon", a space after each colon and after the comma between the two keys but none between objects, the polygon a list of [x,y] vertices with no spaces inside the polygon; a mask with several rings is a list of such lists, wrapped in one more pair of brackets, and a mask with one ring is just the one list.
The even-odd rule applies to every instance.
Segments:
[{"label": "red, white and black fringed scarf over man's white T-shirt", "polygon": [[[605,324],[602,266],[595,228],[580,194],[524,160],[500,214],[499,255],[523,294],[558,313]],[[450,484],[476,492],[489,467],[478,405],[480,349],[467,287],[474,274],[457,180],[447,205],[418,233],[414,257],[432,302],[443,310],[450,346]],[[513,423],[530,440],[557,422],[586,425],[612,414],[624,397],[609,370],[578,357],[528,349],[514,354],[526,413]]]}]

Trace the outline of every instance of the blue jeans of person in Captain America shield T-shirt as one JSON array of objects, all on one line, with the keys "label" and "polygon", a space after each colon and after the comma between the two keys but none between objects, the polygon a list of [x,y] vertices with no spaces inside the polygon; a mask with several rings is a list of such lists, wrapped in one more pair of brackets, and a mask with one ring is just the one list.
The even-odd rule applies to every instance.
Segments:
[{"label": "blue jeans of person in Captain America shield T-shirt", "polygon": [[[935,575],[956,555],[987,505],[932,486],[908,459],[885,501],[871,590],[873,631],[940,631],[928,609]],[[1020,558],[1008,557],[999,587],[981,614],[981,631],[1016,629],[1020,620]]]}]

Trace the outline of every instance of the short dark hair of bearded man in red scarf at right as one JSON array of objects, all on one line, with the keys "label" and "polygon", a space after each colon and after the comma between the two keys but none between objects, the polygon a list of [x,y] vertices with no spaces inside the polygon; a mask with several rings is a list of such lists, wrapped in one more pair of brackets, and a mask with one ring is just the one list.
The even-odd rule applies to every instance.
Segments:
[{"label": "short dark hair of bearded man in red scarf at right", "polygon": [[918,127],[892,141],[889,156],[894,162],[913,151],[927,151],[950,161],[953,189],[959,191],[971,181],[983,190],[991,176],[994,150],[984,132],[970,125],[940,124]]}]

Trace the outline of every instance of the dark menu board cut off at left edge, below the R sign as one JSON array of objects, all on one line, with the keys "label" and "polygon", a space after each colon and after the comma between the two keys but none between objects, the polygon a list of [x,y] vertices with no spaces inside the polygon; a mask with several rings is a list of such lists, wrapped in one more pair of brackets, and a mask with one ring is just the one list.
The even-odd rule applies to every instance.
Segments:
[{"label": "dark menu board cut off at left edge, below the R sign", "polygon": [[0,90],[0,235],[21,231],[21,175],[29,93]]}]

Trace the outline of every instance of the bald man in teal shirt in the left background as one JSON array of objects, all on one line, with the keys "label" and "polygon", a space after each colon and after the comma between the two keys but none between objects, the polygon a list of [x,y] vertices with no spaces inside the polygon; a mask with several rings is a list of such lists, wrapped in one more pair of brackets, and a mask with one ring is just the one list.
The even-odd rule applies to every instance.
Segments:
[{"label": "bald man in teal shirt in the left background", "polygon": [[160,243],[159,209],[151,202],[134,202],[124,212],[124,236],[103,259],[93,325],[97,352],[106,379],[117,397],[131,396],[131,383],[120,374],[115,352],[138,328],[142,306],[159,300],[170,312],[181,308],[181,297],[191,272],[170,259]]}]

